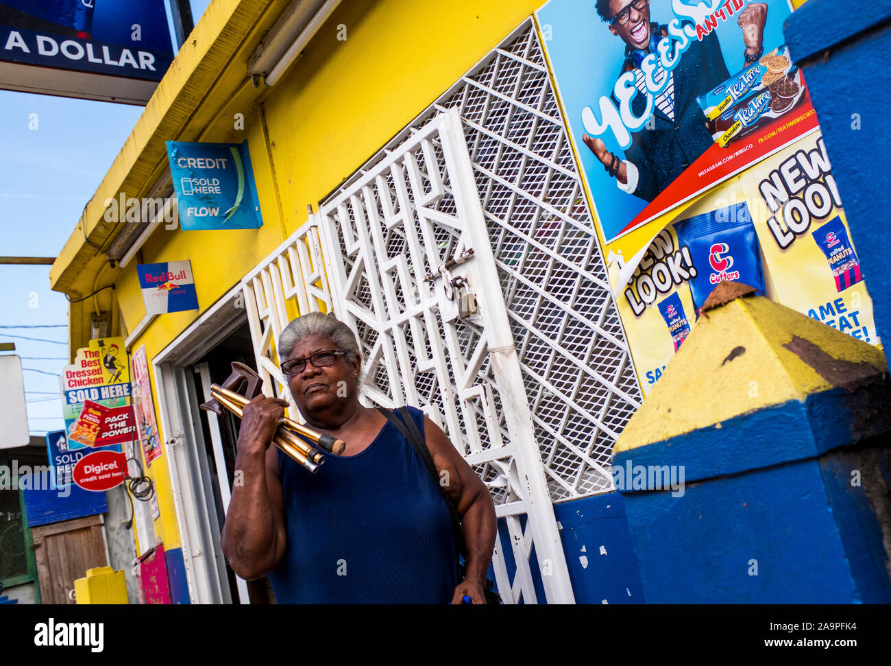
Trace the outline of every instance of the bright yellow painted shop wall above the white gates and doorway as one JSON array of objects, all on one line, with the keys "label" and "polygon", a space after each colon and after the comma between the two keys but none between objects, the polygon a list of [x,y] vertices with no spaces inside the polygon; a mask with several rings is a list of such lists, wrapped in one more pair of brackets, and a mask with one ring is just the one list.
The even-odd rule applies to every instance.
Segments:
[{"label": "bright yellow painted shop wall above the white gates and doorway", "polygon": [[[306,221],[307,203],[315,210],[318,201],[540,4],[538,0],[344,3],[259,103],[242,105],[240,99],[246,95],[239,90],[211,95],[219,99],[196,114],[206,122],[190,127],[188,136],[167,138],[233,143],[247,139],[264,225],[153,234],[115,278],[127,330],[133,331],[145,314],[137,263],[190,259],[200,310],[206,310]],[[337,38],[339,25],[346,26],[346,40]],[[223,70],[224,63],[220,67]],[[223,80],[235,85],[244,71],[244,63],[235,62],[224,70]],[[245,117],[243,130],[234,129],[235,113]],[[133,350],[144,344],[151,368],[151,359],[199,315],[178,312],[156,317]],[[153,371],[151,382],[157,391]],[[157,392],[155,409],[159,414]],[[169,435],[161,432],[161,437],[167,440]],[[160,507],[155,531],[168,549],[180,547],[166,444],[164,455],[152,463],[148,474]]]}]

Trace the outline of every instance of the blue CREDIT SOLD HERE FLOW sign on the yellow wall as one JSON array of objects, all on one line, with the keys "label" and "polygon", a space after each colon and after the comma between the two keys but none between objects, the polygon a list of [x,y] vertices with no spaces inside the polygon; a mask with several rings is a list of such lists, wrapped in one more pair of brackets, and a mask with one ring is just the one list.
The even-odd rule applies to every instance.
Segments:
[{"label": "blue CREDIT SOLD HERE FLOW sign on the yellow wall", "polygon": [[241,144],[168,141],[167,147],[181,229],[263,226],[247,141]]}]

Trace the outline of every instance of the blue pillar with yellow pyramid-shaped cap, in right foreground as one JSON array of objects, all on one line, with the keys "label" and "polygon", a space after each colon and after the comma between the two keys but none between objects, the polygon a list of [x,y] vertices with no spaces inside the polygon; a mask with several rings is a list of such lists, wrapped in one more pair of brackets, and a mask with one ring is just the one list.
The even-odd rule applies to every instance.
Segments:
[{"label": "blue pillar with yellow pyramid-shaped cap, in right foreground", "polygon": [[647,603],[891,603],[889,432],[878,349],[764,297],[706,308],[614,448]]}]

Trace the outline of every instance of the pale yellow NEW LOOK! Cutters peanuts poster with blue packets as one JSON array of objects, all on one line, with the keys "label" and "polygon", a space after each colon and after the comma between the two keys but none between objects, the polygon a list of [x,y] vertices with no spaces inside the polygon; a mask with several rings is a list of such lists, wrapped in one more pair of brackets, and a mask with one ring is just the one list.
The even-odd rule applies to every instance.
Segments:
[{"label": "pale yellow NEW LOOK! Cutters peanuts poster with blue packets", "polygon": [[820,133],[715,187],[659,231],[633,275],[610,282],[644,395],[665,371],[715,284],[771,300],[878,345],[872,301]]}]

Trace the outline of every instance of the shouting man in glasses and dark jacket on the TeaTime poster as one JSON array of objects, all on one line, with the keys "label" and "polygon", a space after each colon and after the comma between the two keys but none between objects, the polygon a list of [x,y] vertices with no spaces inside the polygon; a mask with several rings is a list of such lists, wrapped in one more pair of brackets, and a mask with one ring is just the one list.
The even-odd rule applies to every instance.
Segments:
[{"label": "shouting man in glasses and dark jacket on the TeaTime poster", "polygon": [[[668,34],[667,27],[650,22],[650,0],[596,2],[601,20],[609,23],[609,32],[625,42],[625,62],[620,74],[634,72],[638,94],[632,100],[632,111],[640,117],[650,95],[640,66],[649,53],[656,53],[658,41]],[[764,3],[748,4],[737,16],[746,45],[744,65],[756,62],[764,53],[766,19]],[[734,65],[734,70],[740,69]],[[655,199],[713,143],[696,98],[730,78],[715,31],[701,41],[693,40],[667,76],[669,82],[656,96],[652,118],[640,132],[634,133],[624,160],[607,151],[601,139],[583,136],[584,144],[616,178],[619,189],[644,201]],[[666,70],[658,64],[655,80],[661,84],[665,77]]]}]

